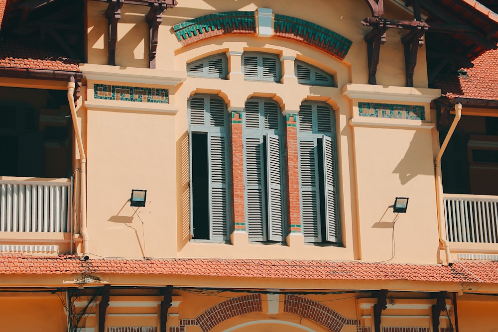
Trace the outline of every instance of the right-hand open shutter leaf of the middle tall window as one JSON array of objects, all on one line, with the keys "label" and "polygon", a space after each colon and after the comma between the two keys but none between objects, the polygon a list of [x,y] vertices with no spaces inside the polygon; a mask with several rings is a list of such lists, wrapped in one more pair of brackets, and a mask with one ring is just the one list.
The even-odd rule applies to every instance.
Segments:
[{"label": "right-hand open shutter leaf of the middle tall window", "polygon": [[266,167],[268,193],[268,239],[282,241],[284,234],[280,143],[277,135],[266,134]]}]

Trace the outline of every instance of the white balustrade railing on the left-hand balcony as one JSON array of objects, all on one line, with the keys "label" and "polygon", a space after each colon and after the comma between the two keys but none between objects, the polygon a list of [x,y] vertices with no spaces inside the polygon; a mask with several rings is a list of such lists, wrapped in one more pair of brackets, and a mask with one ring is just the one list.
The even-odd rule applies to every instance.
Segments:
[{"label": "white balustrade railing on the left-hand balcony", "polygon": [[0,231],[72,233],[72,205],[71,179],[0,180]]}]

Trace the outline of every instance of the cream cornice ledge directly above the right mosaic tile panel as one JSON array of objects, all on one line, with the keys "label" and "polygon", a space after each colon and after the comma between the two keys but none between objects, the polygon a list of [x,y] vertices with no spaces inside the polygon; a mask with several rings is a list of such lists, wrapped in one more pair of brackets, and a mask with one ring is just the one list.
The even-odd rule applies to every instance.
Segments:
[{"label": "cream cornice ledge directly above the right mosaic tile panel", "polygon": [[397,102],[430,103],[441,96],[439,89],[385,87],[382,85],[348,83],[342,88],[349,99],[389,100]]}]

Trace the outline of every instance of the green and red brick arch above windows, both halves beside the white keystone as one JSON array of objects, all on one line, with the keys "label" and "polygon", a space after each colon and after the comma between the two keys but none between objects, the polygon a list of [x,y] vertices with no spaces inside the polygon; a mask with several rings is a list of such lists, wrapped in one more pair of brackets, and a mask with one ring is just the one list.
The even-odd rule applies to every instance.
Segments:
[{"label": "green and red brick arch above windows, both halves beside the white keystone", "polygon": [[[226,11],[199,16],[173,26],[183,46],[225,34],[255,34],[254,11]],[[329,53],[341,60],[352,45],[348,38],[323,26],[292,16],[275,14],[273,36],[292,39]]]}]

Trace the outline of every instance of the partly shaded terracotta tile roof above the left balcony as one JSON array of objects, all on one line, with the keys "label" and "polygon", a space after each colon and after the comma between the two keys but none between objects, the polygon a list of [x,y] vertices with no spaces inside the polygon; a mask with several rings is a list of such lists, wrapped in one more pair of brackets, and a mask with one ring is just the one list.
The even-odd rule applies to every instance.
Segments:
[{"label": "partly shaded terracotta tile roof above the left balcony", "polygon": [[[1,0],[0,0],[1,1]],[[0,67],[78,71],[78,62],[29,43],[0,42]]]}]

